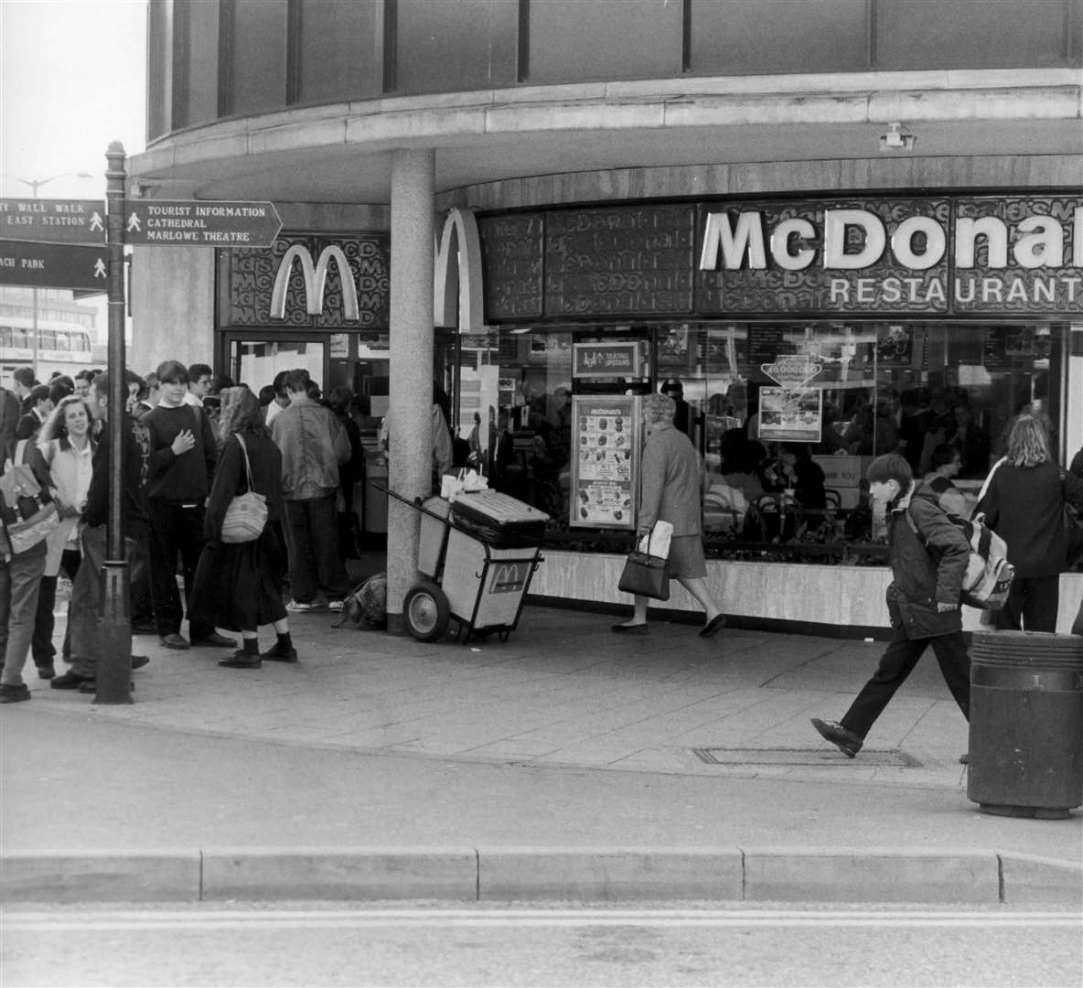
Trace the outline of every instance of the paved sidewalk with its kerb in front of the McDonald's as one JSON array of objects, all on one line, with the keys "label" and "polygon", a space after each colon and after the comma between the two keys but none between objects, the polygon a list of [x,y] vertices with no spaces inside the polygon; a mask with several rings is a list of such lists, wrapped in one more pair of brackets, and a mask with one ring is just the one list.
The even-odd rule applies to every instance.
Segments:
[{"label": "paved sidewalk with its kerb in front of the McDonald's", "polygon": [[529,607],[507,642],[464,646],[293,615],[296,665],[224,670],[227,652],[138,637],[152,661],[131,705],[31,679],[0,712],[6,890],[115,897],[114,866],[112,888],[88,875],[143,856],[160,879],[151,855],[201,898],[356,896],[376,868],[369,892],[442,897],[451,874],[512,897],[671,896],[707,875],[739,898],[1079,899],[1083,817],[977,811],[931,656],[850,760],[809,717],[839,716],[883,644],[612,620]]}]

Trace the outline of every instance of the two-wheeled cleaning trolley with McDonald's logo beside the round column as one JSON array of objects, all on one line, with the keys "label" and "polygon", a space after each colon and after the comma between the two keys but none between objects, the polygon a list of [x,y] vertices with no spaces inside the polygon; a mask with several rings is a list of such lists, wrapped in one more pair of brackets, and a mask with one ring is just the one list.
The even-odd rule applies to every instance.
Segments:
[{"label": "two-wheeled cleaning trolley with McDonald's logo beside the round column", "polygon": [[403,599],[410,635],[435,641],[454,619],[456,641],[493,634],[507,641],[542,562],[549,516],[497,491],[459,493],[454,500],[387,493],[421,512],[417,569],[422,578]]}]

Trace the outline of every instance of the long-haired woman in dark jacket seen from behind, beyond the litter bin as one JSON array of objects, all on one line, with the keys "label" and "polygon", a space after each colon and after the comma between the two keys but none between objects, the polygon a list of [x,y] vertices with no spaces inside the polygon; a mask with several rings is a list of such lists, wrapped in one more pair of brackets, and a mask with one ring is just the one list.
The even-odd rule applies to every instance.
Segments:
[{"label": "long-haired woman in dark jacket seen from behind, beyond the litter bin", "polygon": [[1004,458],[993,468],[976,514],[1008,547],[1015,580],[994,612],[997,628],[1055,632],[1060,574],[1068,569],[1065,502],[1083,508],[1083,480],[1053,461],[1049,437],[1036,415],[1020,415]]}]

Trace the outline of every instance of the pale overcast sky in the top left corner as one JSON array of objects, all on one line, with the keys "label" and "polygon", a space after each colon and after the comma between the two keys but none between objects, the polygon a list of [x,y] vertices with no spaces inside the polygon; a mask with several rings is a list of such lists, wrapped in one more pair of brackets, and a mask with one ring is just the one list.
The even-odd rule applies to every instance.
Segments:
[{"label": "pale overcast sky in the top left corner", "polygon": [[0,195],[105,197],[105,150],[146,142],[146,0],[0,0]]}]

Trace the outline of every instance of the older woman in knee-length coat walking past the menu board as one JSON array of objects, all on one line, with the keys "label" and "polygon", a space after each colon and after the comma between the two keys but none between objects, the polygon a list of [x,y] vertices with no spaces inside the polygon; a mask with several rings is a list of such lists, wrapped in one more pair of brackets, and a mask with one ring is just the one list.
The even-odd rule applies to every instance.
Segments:
[{"label": "older woman in knee-length coat walking past the menu board", "polygon": [[[677,405],[666,394],[643,398],[643,443],[640,468],[640,505],[637,544],[650,535],[656,521],[673,526],[669,542],[669,577],[676,580],[703,607],[706,623],[700,635],[709,638],[725,623],[721,608],[707,589],[703,556],[703,460],[692,441],[674,425]],[[648,597],[636,595],[631,620],[614,624],[618,634],[647,634]]]}]

